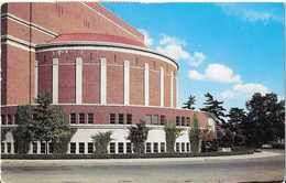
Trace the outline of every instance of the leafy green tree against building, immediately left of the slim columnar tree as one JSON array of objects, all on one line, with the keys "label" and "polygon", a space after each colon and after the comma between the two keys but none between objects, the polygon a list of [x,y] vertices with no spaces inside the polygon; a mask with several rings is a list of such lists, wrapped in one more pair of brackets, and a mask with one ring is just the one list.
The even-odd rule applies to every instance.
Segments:
[{"label": "leafy green tree against building, immediately left of the slim columnar tree", "polygon": [[164,127],[167,152],[175,152],[176,139],[183,134],[183,128],[177,128],[175,121],[167,121]]}]

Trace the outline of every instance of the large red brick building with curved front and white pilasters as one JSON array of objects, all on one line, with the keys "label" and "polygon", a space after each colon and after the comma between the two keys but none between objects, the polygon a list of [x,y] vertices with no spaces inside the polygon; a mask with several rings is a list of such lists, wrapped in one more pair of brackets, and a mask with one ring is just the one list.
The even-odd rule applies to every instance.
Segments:
[{"label": "large red brick building with curved front and white pilasters", "polygon": [[[177,152],[190,150],[189,125],[196,112],[202,128],[213,121],[177,107],[177,62],[144,45],[144,36],[94,2],[6,3],[1,8],[1,126],[16,126],[18,105],[35,105],[50,92],[77,128],[68,153],[91,153],[90,136],[112,129],[110,153],[132,152],[128,126],[152,126],[147,152],[166,150],[164,122],[184,128]],[[33,142],[30,153],[44,152]],[[9,132],[3,153],[13,153]]]}]

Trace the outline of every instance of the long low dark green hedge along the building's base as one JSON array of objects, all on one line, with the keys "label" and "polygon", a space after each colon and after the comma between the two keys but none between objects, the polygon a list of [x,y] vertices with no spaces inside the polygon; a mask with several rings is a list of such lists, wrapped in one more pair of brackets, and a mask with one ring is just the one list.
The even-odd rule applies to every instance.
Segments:
[{"label": "long low dark green hedge along the building's base", "polygon": [[127,153],[127,154],[2,154],[1,159],[56,160],[56,159],[152,159],[152,158],[193,158],[253,154],[253,150],[238,152],[202,152],[202,153]]}]

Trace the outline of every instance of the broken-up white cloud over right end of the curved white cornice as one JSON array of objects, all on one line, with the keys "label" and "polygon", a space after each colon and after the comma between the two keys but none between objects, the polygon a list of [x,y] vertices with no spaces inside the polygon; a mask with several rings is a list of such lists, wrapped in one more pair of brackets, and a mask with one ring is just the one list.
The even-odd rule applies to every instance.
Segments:
[{"label": "broken-up white cloud over right end of the curved white cornice", "polygon": [[183,46],[187,45],[185,40],[180,40],[175,36],[167,36],[165,34],[161,34],[161,36],[162,39],[160,40],[160,44],[164,46],[156,47],[156,50],[161,53],[164,53],[177,61],[185,60],[193,66],[199,66],[207,58],[202,52],[195,52],[194,55],[191,55],[185,51],[183,49]]}]

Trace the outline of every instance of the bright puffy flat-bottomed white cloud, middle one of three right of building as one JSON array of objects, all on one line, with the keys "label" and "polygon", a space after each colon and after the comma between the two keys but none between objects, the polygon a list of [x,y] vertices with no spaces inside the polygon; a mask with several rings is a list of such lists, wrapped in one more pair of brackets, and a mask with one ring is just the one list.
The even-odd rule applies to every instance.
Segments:
[{"label": "bright puffy flat-bottomed white cloud, middle one of three right of building", "polygon": [[189,78],[208,79],[221,83],[241,83],[240,75],[233,75],[231,68],[221,64],[209,64],[205,69],[205,74],[199,74],[197,71],[189,71]]}]

